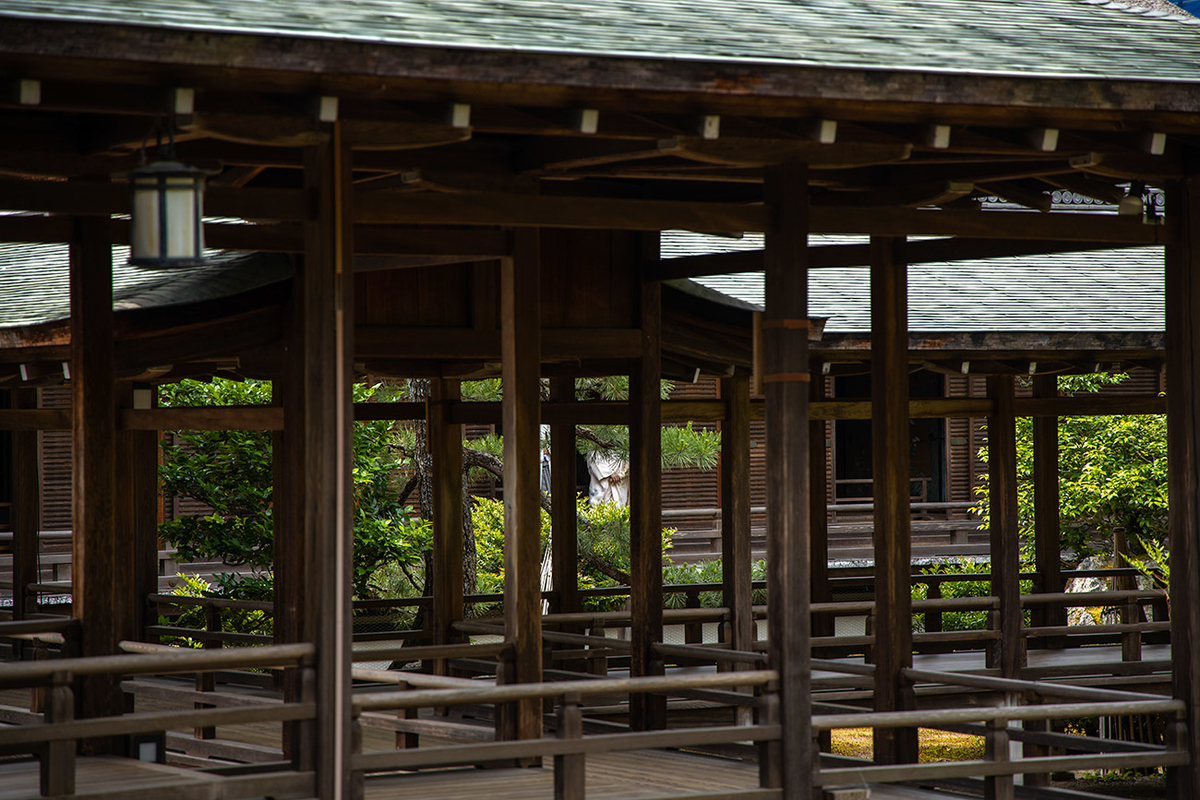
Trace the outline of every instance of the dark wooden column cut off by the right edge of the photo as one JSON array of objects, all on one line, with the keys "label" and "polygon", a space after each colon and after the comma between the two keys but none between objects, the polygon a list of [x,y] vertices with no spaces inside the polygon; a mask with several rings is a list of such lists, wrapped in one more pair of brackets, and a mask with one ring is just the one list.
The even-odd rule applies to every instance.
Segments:
[{"label": "dark wooden column cut off by the right edge of the photo", "polygon": [[1171,685],[1187,703],[1190,763],[1170,796],[1200,794],[1200,164],[1168,187],[1166,441],[1170,469]]}]

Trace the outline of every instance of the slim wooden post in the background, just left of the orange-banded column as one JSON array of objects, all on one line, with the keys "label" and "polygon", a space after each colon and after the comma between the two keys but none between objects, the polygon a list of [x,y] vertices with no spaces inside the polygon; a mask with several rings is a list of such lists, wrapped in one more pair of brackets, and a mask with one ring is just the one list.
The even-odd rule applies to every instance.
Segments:
[{"label": "slim wooden post in the background, just left of the orange-banded column", "polygon": [[721,380],[721,587],[734,650],[754,646],[750,597],[750,377]]}]

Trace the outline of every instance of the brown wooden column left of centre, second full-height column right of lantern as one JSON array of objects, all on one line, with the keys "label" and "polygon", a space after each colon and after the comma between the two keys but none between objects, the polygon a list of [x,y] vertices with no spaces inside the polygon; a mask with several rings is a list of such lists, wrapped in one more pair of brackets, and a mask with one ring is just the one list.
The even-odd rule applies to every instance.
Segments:
[{"label": "brown wooden column left of centre, second full-height column right of lantern", "polygon": [[[541,680],[541,285],[538,229],[514,233],[514,254],[500,260],[500,339],[504,381],[504,637],[512,660],[504,682]],[[541,700],[510,709],[509,739],[541,736]]]}]

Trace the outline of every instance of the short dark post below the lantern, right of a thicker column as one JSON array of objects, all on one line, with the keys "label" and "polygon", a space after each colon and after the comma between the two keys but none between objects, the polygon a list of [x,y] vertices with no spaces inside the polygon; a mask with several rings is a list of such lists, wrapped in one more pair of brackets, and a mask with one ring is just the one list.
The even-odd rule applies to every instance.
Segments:
[{"label": "short dark post below the lantern, right of a thicker column", "polygon": [[[151,408],[154,389],[118,384],[120,408]],[[146,618],[146,595],[158,590],[158,432],[119,431],[116,434],[118,469],[125,480],[116,487],[115,554],[127,593],[120,602],[128,603],[133,616],[125,620],[128,630],[121,638],[143,638]]]}]

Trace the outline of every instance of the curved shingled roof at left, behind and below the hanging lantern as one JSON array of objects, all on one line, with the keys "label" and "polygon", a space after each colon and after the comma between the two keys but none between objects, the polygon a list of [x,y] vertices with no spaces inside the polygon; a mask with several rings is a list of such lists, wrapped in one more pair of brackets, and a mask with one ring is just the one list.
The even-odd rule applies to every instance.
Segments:
[{"label": "curved shingled roof at left, behind and below the hanging lantern", "polygon": [[[150,308],[228,297],[292,275],[286,257],[210,253],[211,264],[149,271],[130,266],[127,247],[113,248],[113,307]],[[67,246],[0,242],[0,329],[71,315]]]}]

